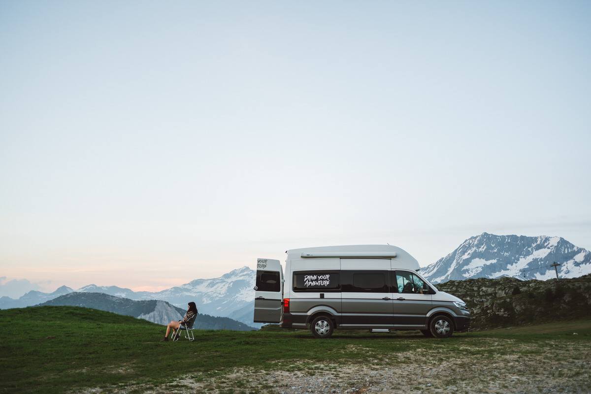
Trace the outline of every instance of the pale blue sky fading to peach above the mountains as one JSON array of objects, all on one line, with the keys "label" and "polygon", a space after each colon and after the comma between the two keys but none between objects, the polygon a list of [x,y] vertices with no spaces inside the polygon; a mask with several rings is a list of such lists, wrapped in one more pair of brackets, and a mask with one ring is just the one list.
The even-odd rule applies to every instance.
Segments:
[{"label": "pale blue sky fading to peach above the mountains", "polygon": [[0,1],[0,288],[158,290],[323,245],[425,266],[482,232],[591,249],[590,18]]}]

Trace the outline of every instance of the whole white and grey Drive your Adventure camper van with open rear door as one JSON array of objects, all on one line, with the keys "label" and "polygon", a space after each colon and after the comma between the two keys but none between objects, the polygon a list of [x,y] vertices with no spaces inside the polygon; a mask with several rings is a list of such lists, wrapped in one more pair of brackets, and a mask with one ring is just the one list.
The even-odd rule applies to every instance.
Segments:
[{"label": "whole white and grey Drive your Adventure camper van with open rear door", "polygon": [[322,246],[287,250],[256,263],[255,323],[310,329],[329,338],[337,328],[420,330],[450,337],[467,330],[461,299],[439,291],[413,256],[391,245]]}]

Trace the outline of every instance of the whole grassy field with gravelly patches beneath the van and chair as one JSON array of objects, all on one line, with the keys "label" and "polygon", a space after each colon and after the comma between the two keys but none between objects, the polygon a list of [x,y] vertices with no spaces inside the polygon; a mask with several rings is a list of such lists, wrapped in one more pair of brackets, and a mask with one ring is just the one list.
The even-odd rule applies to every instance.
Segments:
[{"label": "whole grassy field with gravelly patches beneath the van and chair", "polygon": [[[2,310],[0,326],[0,392],[388,392],[405,382],[400,373],[413,377],[405,392],[591,392],[591,320],[446,340],[418,331],[335,331],[330,340],[195,331],[192,343],[160,342],[160,325],[76,307]],[[388,377],[392,366],[398,377]]]}]

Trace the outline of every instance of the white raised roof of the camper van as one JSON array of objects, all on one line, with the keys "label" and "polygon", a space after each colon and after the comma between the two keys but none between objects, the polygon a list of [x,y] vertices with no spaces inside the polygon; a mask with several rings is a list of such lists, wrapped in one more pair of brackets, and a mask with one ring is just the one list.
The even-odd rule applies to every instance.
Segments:
[{"label": "white raised roof of the camper van", "polygon": [[317,246],[287,250],[287,259],[311,258],[391,258],[392,266],[419,268],[418,261],[404,249],[392,245],[340,245]]}]

